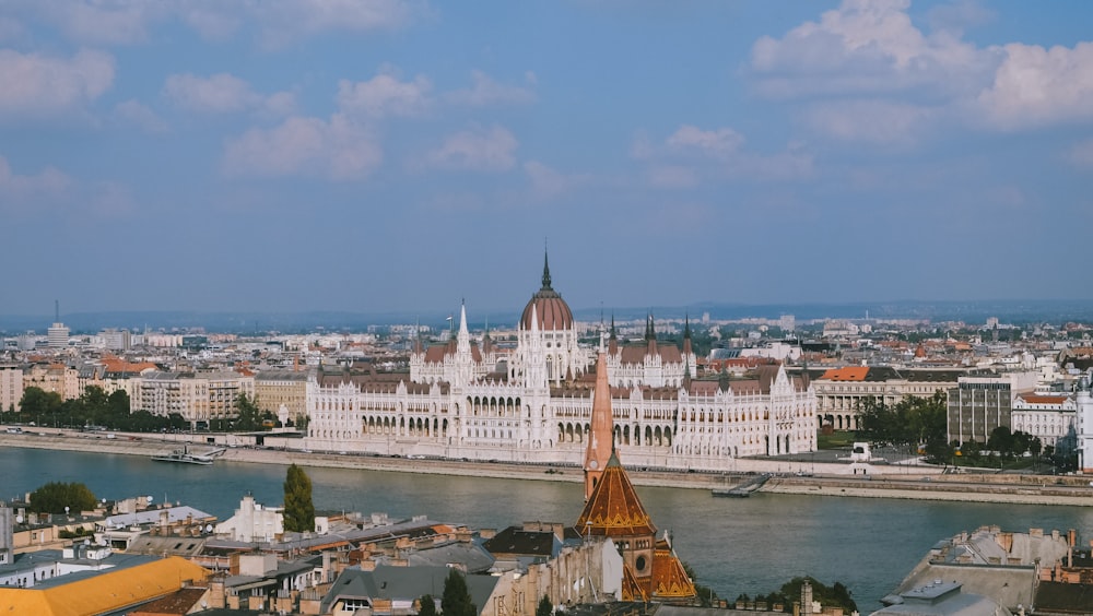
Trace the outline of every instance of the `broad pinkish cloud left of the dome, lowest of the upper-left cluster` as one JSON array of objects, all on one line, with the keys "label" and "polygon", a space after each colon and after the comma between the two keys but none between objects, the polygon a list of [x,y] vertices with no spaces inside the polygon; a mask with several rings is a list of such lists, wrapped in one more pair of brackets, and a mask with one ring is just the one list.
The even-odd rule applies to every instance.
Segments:
[{"label": "broad pinkish cloud left of the dome, lowest of the upper-left cluster", "polygon": [[230,175],[366,178],[383,162],[371,132],[341,114],[329,121],[292,117],[269,129],[251,129],[224,145]]}]

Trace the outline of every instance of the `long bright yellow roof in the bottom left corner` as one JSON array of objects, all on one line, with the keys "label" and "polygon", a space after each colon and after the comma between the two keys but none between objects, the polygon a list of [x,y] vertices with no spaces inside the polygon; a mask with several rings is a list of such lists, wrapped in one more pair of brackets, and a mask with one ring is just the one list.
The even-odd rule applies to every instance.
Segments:
[{"label": "long bright yellow roof in the bottom left corner", "polygon": [[[45,589],[0,588],[0,614],[91,616],[120,609],[177,591],[184,580],[201,582],[209,571],[172,556],[144,565],[81,577]],[[63,578],[58,578],[62,581]]]}]

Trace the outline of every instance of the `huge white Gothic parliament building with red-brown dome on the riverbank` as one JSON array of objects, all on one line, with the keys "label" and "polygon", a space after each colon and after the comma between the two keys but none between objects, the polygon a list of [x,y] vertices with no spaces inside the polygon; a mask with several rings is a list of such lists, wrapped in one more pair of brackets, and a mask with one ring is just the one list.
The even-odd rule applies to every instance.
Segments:
[{"label": "huge white Gothic parliament building with red-brown dome on the riverbank", "polygon": [[[740,455],[815,449],[815,393],[804,380],[780,366],[747,380],[692,380],[689,334],[682,350],[660,344],[650,320],[642,344],[610,337],[615,446],[628,464],[727,470]],[[512,353],[495,351],[489,336],[473,344],[465,307],[454,340],[411,354],[409,377],[317,374],[306,447],[576,464],[591,420],[592,366],[544,264]]]}]

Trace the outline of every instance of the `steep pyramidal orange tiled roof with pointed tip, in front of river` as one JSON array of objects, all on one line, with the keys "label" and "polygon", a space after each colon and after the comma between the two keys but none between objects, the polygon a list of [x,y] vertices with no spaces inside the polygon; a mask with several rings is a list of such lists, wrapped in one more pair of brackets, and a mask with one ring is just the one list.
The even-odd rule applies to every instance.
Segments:
[{"label": "steep pyramidal orange tiled roof with pointed tip, in front of river", "polygon": [[[591,522],[591,524],[588,524]],[[612,453],[603,475],[592,489],[585,510],[574,528],[580,534],[619,537],[657,533],[653,519],[645,512],[634,484]]]}]

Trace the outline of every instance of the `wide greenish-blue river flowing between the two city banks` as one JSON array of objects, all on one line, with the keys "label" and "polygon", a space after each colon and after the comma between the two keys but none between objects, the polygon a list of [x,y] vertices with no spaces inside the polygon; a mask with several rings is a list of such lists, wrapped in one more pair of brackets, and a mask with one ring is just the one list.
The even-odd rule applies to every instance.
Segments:
[{"label": "wide greenish-blue river flowing between the two city banks", "polygon": [[[151,495],[221,520],[246,494],[283,501],[285,467],[219,460],[212,466],[164,464],[132,455],[0,448],[0,499],[48,482],[81,482],[98,497]],[[583,487],[562,482],[432,476],[308,467],[319,510],[425,514],[440,522],[503,529],[524,521],[573,523]],[[795,576],[850,589],[858,608],[881,607],[937,541],[983,525],[1078,531],[1093,538],[1093,507],[992,505],[755,494],[714,498],[708,490],[638,487],[660,531],[668,530],[697,582],[719,595],[766,594]]]}]

